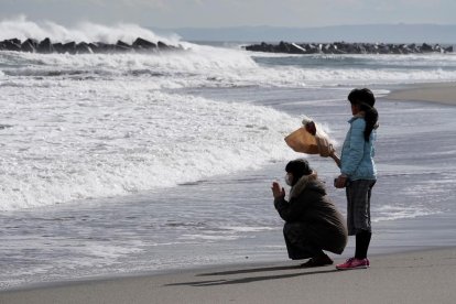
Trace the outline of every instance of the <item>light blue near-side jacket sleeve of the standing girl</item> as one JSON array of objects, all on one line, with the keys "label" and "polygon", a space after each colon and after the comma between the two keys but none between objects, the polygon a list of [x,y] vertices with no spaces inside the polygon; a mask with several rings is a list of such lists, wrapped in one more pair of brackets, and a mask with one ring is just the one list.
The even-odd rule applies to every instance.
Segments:
[{"label": "light blue near-side jacket sleeve of the standing girl", "polygon": [[363,151],[365,151],[365,128],[366,122],[362,119],[357,119],[351,123],[349,146],[347,151],[347,156],[341,163],[340,172],[347,176],[352,175],[359,164],[361,163]]}]

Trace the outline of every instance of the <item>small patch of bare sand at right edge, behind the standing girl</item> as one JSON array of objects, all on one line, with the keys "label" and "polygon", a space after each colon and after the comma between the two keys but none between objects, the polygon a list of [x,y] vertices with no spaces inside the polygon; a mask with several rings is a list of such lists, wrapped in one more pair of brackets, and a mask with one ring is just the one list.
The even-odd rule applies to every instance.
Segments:
[{"label": "small patch of bare sand at right edge, behind the standing girl", "polygon": [[387,99],[431,101],[456,106],[456,83],[421,84],[389,94]]}]

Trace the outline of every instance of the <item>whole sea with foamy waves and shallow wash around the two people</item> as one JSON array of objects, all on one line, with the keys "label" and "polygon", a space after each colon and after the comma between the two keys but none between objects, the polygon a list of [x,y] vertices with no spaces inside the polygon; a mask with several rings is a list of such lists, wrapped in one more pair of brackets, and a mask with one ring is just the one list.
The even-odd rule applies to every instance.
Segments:
[{"label": "whole sea with foamy waves and shallow wash around the two people", "polygon": [[[0,32],[25,36],[17,24]],[[185,51],[0,52],[0,289],[286,260],[270,191],[286,162],[307,156],[343,213],[345,193],[332,187],[334,162],[283,138],[310,116],[339,146],[346,96],[361,86],[380,112],[371,251],[456,245],[456,107],[382,98],[455,82],[454,54],[278,55],[128,24],[35,26],[39,37],[143,36]]]}]

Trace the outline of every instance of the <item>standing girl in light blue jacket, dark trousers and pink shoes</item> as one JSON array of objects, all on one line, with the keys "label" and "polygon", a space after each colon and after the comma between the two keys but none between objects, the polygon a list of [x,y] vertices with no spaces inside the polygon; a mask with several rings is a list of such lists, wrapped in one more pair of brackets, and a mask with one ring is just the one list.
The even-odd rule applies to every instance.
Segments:
[{"label": "standing girl in light blue jacket, dark trousers and pink shoes", "polygon": [[373,162],[378,112],[370,89],[354,89],[348,95],[352,118],[344,141],[340,159],[332,155],[340,167],[335,181],[337,188],[346,187],[348,235],[356,236],[355,257],[336,265],[339,270],[368,268],[367,251],[372,235],[370,195],[377,181]]}]

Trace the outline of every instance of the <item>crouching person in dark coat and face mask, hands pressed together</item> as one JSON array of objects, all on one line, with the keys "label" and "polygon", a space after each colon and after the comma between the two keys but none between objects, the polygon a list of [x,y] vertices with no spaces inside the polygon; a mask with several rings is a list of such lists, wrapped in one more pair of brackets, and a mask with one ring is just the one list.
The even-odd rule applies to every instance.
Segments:
[{"label": "crouching person in dark coat and face mask, hands pressed together", "polygon": [[306,160],[289,162],[285,171],[285,182],[291,186],[289,202],[285,189],[276,182],[272,183],[272,194],[275,209],[285,220],[283,235],[290,259],[310,259],[301,265],[303,268],[333,264],[324,250],[337,254],[344,251],[347,245],[345,219]]}]

